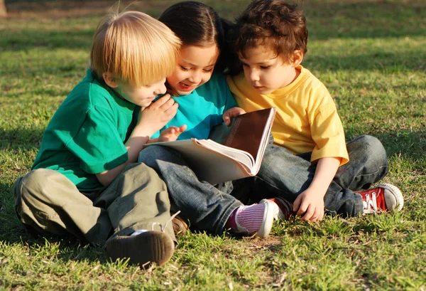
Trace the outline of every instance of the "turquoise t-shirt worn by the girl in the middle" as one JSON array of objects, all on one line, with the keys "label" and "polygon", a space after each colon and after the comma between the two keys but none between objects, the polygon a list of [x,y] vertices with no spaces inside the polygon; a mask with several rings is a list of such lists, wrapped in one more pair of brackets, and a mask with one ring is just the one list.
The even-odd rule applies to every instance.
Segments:
[{"label": "turquoise t-shirt worn by the girl in the middle", "polygon": [[[178,139],[207,139],[210,129],[223,122],[224,112],[238,106],[222,73],[214,73],[207,83],[196,88],[190,95],[173,98],[179,104],[178,113],[163,129],[187,125]],[[156,132],[152,138],[159,134],[160,132]]]}]

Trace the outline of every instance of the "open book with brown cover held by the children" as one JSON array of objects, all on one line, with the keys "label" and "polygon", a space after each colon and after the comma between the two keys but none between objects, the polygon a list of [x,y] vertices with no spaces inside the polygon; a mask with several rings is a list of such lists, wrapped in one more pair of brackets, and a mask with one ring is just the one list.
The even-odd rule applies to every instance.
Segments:
[{"label": "open book with brown cover held by the children", "polygon": [[231,126],[218,125],[209,139],[184,139],[146,144],[172,147],[182,154],[200,181],[218,184],[258,173],[276,109],[234,117]]}]

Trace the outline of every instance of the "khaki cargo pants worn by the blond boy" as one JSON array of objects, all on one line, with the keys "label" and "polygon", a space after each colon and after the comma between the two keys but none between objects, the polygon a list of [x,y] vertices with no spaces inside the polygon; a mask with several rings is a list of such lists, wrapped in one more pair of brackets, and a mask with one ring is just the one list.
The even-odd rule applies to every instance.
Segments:
[{"label": "khaki cargo pants worn by the blond boy", "polygon": [[135,163],[101,191],[82,194],[62,174],[35,169],[13,186],[15,209],[26,228],[42,236],[73,235],[94,245],[163,226],[173,240],[165,183],[146,164]]}]

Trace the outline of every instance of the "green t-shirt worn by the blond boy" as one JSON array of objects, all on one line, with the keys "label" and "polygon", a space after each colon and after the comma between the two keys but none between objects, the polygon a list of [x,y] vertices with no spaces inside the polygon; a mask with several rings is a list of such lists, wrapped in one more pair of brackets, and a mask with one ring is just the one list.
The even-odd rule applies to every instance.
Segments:
[{"label": "green t-shirt worn by the blond boy", "polygon": [[58,171],[83,192],[102,189],[95,174],[127,161],[134,107],[87,70],[50,120],[32,169]]}]

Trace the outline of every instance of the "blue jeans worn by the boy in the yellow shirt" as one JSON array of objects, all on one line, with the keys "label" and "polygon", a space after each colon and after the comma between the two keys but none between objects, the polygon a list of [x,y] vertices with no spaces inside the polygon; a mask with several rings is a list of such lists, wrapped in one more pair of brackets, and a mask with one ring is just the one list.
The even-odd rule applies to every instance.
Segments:
[{"label": "blue jeans worn by the boy in the yellow shirt", "polygon": [[[340,166],[324,196],[327,212],[356,216],[363,211],[361,195],[354,193],[368,189],[388,173],[386,151],[376,137],[364,135],[346,144],[349,162]],[[266,148],[261,169],[256,176],[256,197],[260,200],[281,196],[295,201],[310,186],[317,164],[310,162],[310,152],[292,154],[273,144]],[[267,197],[267,198],[268,198]]]}]

